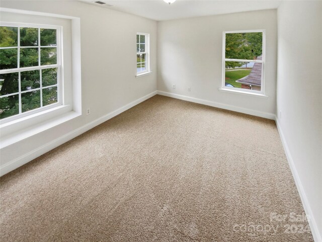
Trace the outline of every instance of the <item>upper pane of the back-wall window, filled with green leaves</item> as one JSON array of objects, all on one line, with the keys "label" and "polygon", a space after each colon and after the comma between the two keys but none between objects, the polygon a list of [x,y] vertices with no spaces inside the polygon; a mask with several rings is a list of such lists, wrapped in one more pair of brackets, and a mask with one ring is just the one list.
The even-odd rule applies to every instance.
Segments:
[{"label": "upper pane of the back-wall window, filled with green leaves", "polygon": [[262,56],[263,33],[227,33],[226,59],[254,60]]}]

